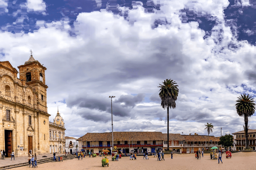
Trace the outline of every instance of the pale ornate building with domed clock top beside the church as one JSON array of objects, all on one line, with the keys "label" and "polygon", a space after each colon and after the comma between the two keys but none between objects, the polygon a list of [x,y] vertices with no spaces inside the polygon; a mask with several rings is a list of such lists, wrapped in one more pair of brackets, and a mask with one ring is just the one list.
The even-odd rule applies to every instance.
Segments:
[{"label": "pale ornate building with domed clock top beside the church", "polygon": [[50,153],[65,152],[65,130],[64,121],[60,116],[58,109],[55,119],[53,119],[53,123],[49,122]]}]

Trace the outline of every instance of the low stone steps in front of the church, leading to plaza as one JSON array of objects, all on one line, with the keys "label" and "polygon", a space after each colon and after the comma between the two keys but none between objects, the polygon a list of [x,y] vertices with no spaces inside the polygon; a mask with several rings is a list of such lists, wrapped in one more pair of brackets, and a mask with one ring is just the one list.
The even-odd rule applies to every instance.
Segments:
[{"label": "low stone steps in front of the church, leading to plaza", "polygon": [[[75,155],[71,155],[71,154],[68,154],[67,158],[65,157],[65,155],[60,155],[60,156],[62,156],[63,160],[76,158]],[[56,157],[56,159],[59,160],[59,157]],[[47,162],[54,162],[53,157],[37,160],[36,164],[47,163]],[[20,166],[29,166],[29,164],[28,164],[28,162],[25,162],[25,163],[19,163],[19,164],[14,164],[14,165],[3,166],[3,167],[0,167],[0,170],[17,168]],[[31,167],[32,167],[32,165],[31,165]]]}]

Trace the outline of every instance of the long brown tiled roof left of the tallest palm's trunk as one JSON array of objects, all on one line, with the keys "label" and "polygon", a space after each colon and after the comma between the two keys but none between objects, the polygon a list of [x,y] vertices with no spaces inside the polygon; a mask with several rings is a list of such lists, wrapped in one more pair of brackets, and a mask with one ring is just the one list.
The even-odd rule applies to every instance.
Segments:
[{"label": "long brown tiled roof left of the tallest palm's trunk", "polygon": [[[77,140],[86,141],[86,137],[87,141],[112,141],[112,132],[86,133]],[[151,131],[115,131],[113,137],[114,141],[165,140],[162,132]]]}]

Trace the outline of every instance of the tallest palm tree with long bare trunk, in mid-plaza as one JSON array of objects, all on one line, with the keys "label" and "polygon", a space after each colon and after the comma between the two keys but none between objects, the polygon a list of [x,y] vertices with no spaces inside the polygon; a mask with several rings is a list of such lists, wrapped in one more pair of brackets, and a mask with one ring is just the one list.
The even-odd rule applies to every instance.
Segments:
[{"label": "tallest palm tree with long bare trunk, in mid-plaza", "polygon": [[171,79],[166,79],[160,86],[159,97],[161,99],[161,106],[167,108],[167,150],[169,150],[169,108],[176,108],[175,101],[177,100],[179,89],[177,83]]}]

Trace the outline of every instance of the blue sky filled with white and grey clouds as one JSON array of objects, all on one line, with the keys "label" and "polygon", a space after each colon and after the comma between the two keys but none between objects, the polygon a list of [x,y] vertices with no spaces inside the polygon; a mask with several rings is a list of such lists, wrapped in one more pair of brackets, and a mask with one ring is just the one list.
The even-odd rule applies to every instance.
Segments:
[{"label": "blue sky filled with white and grey clouds", "polygon": [[[237,97],[256,94],[253,0],[0,0],[0,61],[47,68],[48,113],[65,136],[167,133],[159,84],[179,86],[170,133],[243,130]],[[249,118],[256,129],[256,117]]]}]

